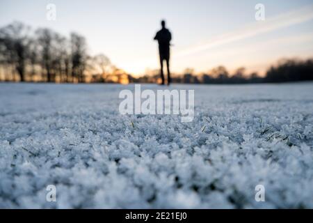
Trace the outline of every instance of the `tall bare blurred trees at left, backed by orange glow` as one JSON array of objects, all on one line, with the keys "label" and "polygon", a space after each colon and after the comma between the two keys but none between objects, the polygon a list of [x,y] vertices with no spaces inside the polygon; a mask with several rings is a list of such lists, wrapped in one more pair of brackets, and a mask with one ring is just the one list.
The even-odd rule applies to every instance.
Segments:
[{"label": "tall bare blurred trees at left, backed by orange glow", "polygon": [[0,66],[6,80],[85,82],[86,72],[104,74],[111,67],[103,54],[87,54],[86,39],[51,29],[33,31],[21,22],[0,29]]}]

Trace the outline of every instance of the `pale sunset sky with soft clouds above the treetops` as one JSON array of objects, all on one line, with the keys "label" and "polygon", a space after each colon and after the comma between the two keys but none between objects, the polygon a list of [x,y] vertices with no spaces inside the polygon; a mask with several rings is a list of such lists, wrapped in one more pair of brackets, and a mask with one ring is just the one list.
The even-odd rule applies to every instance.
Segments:
[{"label": "pale sunset sky with soft clouds above the treetops", "polygon": [[[47,20],[47,4],[56,20]],[[265,20],[255,20],[255,5]],[[13,21],[85,36],[88,52],[105,54],[118,68],[143,75],[159,68],[153,40],[167,22],[172,32],[171,70],[207,72],[223,65],[264,74],[282,58],[313,56],[313,0],[0,0],[0,26]]]}]

